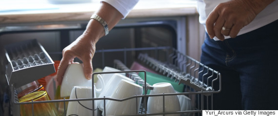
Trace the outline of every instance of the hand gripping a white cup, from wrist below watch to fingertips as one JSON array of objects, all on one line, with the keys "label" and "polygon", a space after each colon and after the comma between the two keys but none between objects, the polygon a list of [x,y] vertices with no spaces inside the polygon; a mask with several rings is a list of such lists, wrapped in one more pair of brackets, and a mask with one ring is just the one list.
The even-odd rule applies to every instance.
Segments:
[{"label": "hand gripping a white cup, from wrist below watch to fingertips", "polygon": [[93,73],[92,58],[94,57],[96,47],[89,33],[84,32],[78,39],[65,47],[62,52],[62,59],[57,71],[57,81],[61,85],[63,75],[68,64],[74,62],[74,58],[79,58],[83,62],[84,75],[91,79]]}]

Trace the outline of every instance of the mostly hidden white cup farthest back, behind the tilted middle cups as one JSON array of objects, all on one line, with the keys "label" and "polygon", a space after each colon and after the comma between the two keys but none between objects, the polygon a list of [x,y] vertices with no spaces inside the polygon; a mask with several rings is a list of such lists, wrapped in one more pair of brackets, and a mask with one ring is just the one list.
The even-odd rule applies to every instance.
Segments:
[{"label": "mostly hidden white cup farthest back, behind the tilted middle cups", "polygon": [[[105,66],[102,70],[102,72],[116,72],[116,71],[120,71],[118,69],[115,69],[115,68],[112,68],[112,67],[108,67],[108,66]],[[121,75],[125,76],[125,73],[120,73]],[[111,73],[111,74],[101,74],[101,77],[103,78],[104,82],[107,83],[108,80],[110,79],[110,77],[112,77],[114,75],[114,73]],[[95,82],[96,84],[96,87],[97,89],[99,89],[101,87],[101,82],[99,80],[97,80],[97,82]],[[98,94],[97,94],[97,97]]]}]

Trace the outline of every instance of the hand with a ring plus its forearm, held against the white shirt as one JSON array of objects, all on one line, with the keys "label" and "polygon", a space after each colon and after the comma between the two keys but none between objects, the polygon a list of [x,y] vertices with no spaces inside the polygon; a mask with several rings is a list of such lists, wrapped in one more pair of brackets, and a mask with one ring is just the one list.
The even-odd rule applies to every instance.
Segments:
[{"label": "hand with a ring plus its forearm, held against the white shirt", "polygon": [[220,40],[224,40],[224,36],[236,38],[240,29],[255,19],[272,1],[231,0],[218,4],[206,20],[209,37],[217,37]]}]

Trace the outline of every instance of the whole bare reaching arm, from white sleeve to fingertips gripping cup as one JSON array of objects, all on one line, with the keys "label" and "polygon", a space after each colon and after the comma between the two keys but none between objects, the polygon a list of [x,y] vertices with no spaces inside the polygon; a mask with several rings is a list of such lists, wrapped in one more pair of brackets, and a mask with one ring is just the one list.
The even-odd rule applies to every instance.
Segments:
[{"label": "whole bare reaching arm, from white sleeve to fingertips gripping cup", "polygon": [[[100,8],[95,12],[95,14],[99,15],[107,22],[109,30],[111,30],[119,22],[119,20],[123,18],[123,15],[121,15],[115,7],[106,2],[100,3]],[[94,57],[96,51],[96,43],[104,35],[105,32],[103,30],[103,26],[99,23],[99,21],[96,19],[90,19],[84,33],[73,43],[63,49],[63,58],[60,61],[57,71],[57,81],[59,85],[62,83],[63,75],[68,64],[76,63],[73,61],[74,58],[79,58],[83,61],[85,77],[87,79],[92,78],[92,58]]]}]

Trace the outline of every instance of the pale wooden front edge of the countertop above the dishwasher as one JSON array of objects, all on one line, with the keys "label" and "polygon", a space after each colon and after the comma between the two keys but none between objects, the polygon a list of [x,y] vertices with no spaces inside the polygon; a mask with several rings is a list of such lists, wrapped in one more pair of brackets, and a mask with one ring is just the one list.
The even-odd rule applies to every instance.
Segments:
[{"label": "pale wooden front edge of the countertop above the dishwasher", "polygon": [[[61,21],[78,21],[89,20],[95,11],[84,12],[44,12],[44,13],[21,13],[21,14],[0,14],[0,25],[23,24],[23,23],[42,23],[42,22],[61,22]],[[154,9],[134,9],[128,18],[144,17],[172,17],[198,14],[197,8],[175,7],[175,8],[154,8]]]}]

